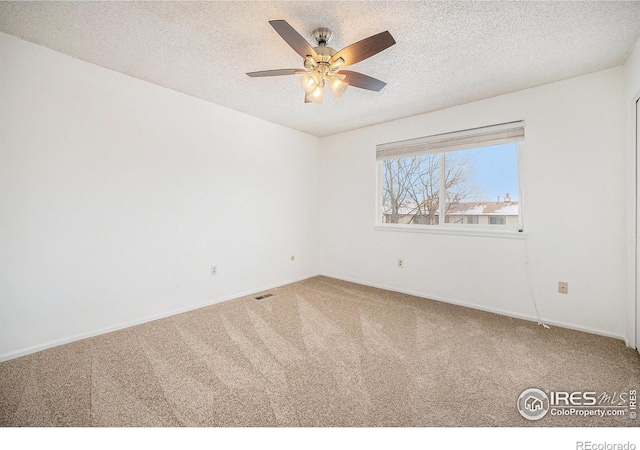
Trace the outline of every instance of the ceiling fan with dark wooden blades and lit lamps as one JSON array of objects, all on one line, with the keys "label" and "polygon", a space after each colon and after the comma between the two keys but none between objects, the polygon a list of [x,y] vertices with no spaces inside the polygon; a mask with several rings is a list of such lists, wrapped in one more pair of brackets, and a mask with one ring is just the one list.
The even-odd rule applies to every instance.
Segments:
[{"label": "ceiling fan with dark wooden blades and lit lamps", "polygon": [[273,77],[278,75],[303,74],[300,82],[305,92],[305,103],[322,103],[322,92],[325,84],[329,85],[336,97],[344,94],[348,86],[370,91],[380,91],[387,83],[368,75],[343,67],[358,63],[391,47],[396,41],[388,31],[375,34],[336,52],[327,44],[331,40],[329,28],[318,28],[312,33],[318,44],[311,45],[285,20],[270,20],[271,26],[289,46],[303,58],[304,69],[276,69],[249,72],[250,77]]}]

